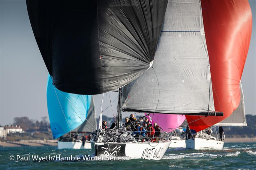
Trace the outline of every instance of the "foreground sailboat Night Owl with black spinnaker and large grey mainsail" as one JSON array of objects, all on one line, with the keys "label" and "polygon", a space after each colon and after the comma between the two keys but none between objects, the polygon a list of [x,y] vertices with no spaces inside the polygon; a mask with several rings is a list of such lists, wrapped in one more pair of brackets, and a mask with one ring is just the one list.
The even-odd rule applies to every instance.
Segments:
[{"label": "foreground sailboat Night Owl with black spinnaker and large grey mainsail", "polygon": [[223,115],[213,104],[200,1],[27,0],[27,8],[54,87],[85,95],[119,89],[117,122],[92,133],[96,156],[163,157],[168,133],[134,139],[120,129],[122,112]]}]

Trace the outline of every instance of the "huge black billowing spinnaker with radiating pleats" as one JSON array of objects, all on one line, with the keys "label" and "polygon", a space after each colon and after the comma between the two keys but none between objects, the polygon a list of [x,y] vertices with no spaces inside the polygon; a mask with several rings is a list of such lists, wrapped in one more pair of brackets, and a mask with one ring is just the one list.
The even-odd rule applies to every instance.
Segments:
[{"label": "huge black billowing spinnaker with radiating pleats", "polygon": [[54,85],[100,94],[139,77],[154,59],[167,0],[27,0]]}]

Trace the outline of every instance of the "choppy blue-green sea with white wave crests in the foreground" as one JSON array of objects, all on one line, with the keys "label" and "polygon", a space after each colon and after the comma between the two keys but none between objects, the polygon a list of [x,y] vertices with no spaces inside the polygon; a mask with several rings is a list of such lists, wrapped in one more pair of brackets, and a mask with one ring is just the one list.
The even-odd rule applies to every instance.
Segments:
[{"label": "choppy blue-green sea with white wave crests in the foreground", "polygon": [[[136,150],[134,150],[136,152]],[[256,169],[256,143],[225,143],[223,150],[196,151],[176,148],[168,149],[161,160],[124,158],[121,161],[40,161],[32,156],[54,155],[71,158],[75,155],[90,155],[91,150],[58,150],[45,147],[0,147],[0,169]],[[17,159],[17,155],[19,160]],[[10,160],[14,156],[14,160]],[[21,158],[30,160],[20,160]],[[12,157],[13,158],[13,157]],[[93,158],[93,157],[92,157]]]}]

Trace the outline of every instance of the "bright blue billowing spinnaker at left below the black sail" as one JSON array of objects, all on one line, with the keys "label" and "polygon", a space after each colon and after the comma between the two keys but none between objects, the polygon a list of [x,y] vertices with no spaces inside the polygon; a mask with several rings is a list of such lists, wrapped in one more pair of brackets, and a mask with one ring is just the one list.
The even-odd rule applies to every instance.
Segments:
[{"label": "bright blue billowing spinnaker at left below the black sail", "polygon": [[[52,85],[50,76],[46,91],[47,108],[54,139],[71,130],[82,132],[96,128],[96,114],[91,95],[61,92]],[[83,126],[78,128],[81,124]]]}]

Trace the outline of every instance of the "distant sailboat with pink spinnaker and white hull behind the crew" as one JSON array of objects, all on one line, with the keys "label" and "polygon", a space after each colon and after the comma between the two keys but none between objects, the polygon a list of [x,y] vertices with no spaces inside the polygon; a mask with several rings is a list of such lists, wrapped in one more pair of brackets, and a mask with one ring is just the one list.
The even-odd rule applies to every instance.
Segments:
[{"label": "distant sailboat with pink spinnaker and white hull behind the crew", "polygon": [[[145,113],[145,115],[147,114]],[[177,135],[177,130],[182,131],[183,128],[176,129],[185,121],[185,115],[157,114],[157,116],[154,116],[153,114],[150,114],[148,115],[148,119],[152,122],[151,124],[156,122],[158,125],[161,125],[161,128],[165,132],[170,134],[171,144],[169,145],[169,148],[186,148],[185,139],[181,139]]]}]

